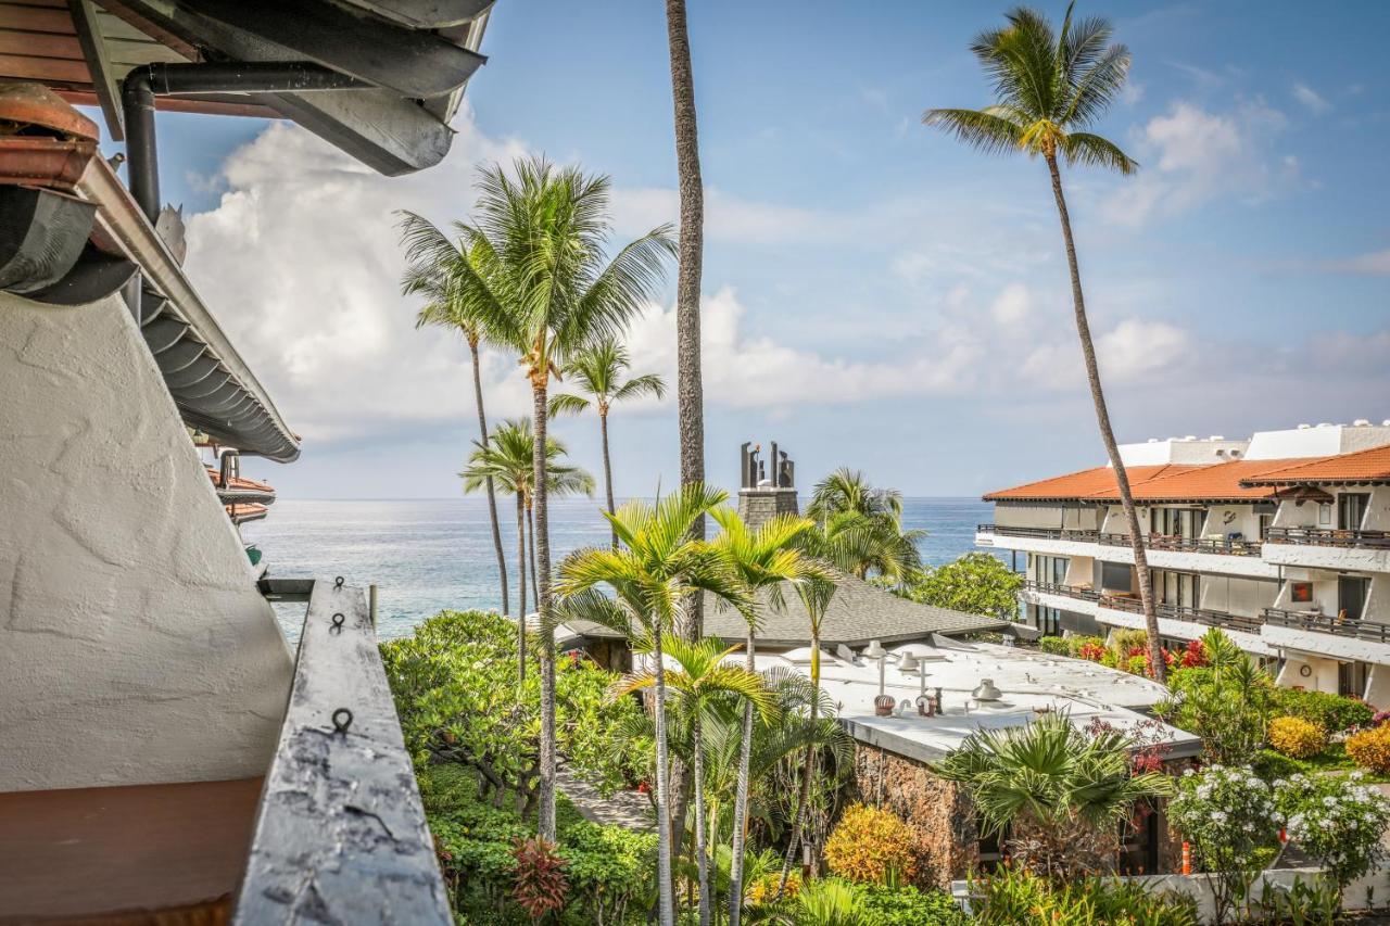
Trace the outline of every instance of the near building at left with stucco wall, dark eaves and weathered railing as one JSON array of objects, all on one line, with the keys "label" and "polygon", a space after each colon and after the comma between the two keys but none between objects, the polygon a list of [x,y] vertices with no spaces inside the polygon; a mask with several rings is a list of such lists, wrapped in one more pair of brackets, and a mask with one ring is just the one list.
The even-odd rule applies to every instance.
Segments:
[{"label": "near building at left with stucco wall, dark eaves and weathered railing", "polygon": [[453,922],[371,577],[263,578],[236,533],[274,499],[239,456],[300,442],[181,266],[156,111],[423,170],[489,6],[0,4],[0,922]]}]

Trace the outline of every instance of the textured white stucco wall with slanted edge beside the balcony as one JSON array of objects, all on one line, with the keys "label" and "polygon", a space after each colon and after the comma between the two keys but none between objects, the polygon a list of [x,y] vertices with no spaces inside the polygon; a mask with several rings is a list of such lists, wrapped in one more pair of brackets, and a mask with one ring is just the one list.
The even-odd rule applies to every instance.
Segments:
[{"label": "textured white stucco wall with slanted edge beside the balcony", "polygon": [[0,293],[0,791],[263,774],[291,656],[120,298]]}]

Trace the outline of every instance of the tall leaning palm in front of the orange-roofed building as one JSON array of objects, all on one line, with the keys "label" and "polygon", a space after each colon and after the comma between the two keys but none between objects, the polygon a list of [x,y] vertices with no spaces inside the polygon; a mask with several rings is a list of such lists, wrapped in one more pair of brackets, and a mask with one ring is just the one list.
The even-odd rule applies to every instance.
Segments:
[{"label": "tall leaning palm in front of the orange-roofed building", "polygon": [[1081,293],[1081,271],[1076,261],[1076,242],[1072,239],[1072,220],[1066,210],[1062,172],[1058,167],[1061,159],[1069,167],[1076,164],[1108,167],[1120,174],[1131,174],[1138,168],[1138,164],[1118,145],[1086,131],[1123,89],[1129,76],[1130,54],[1123,44],[1109,43],[1113,29],[1106,19],[1091,18],[1073,24],[1073,6],[1074,3],[1068,6],[1059,33],[1054,33],[1047,17],[1026,7],[1009,13],[1005,28],[981,32],[970,50],[980,58],[994,83],[995,104],[983,110],[927,110],[922,121],[941,127],[981,152],[998,154],[1022,152],[1029,157],[1041,156],[1047,163],[1052,178],[1052,197],[1056,200],[1056,213],[1062,222],[1066,264],[1072,274],[1076,334],[1081,341],[1091,402],[1095,405],[1101,441],[1115,469],[1120,505],[1129,524],[1154,677],[1163,681],[1166,667],[1158,637],[1158,617],[1154,613],[1148,560],[1144,556],[1144,535],[1140,533],[1129,474],[1125,471],[1125,462],[1115,442],[1111,413],[1101,389],[1095,345],[1091,342],[1086,298]]}]

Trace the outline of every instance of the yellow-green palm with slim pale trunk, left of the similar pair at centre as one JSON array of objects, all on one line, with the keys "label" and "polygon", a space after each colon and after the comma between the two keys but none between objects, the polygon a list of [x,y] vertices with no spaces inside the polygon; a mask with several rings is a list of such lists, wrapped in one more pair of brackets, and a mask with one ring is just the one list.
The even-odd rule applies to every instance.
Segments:
[{"label": "yellow-green palm with slim pale trunk, left of the similar pair at centre", "polygon": [[[566,616],[580,616],[617,628],[644,634],[651,647],[656,722],[656,838],[659,912],[662,926],[673,926],[671,829],[667,790],[669,751],[666,744],[666,665],[662,645],[681,612],[702,591],[720,598],[741,613],[752,602],[728,559],[705,541],[691,537],[691,526],[727,495],[702,484],[682,485],[656,505],[628,502],[607,514],[617,530],[619,549],[587,549],[560,566],[559,592]],[[607,585],[613,598],[598,591]],[[553,630],[553,627],[552,627]]]}]

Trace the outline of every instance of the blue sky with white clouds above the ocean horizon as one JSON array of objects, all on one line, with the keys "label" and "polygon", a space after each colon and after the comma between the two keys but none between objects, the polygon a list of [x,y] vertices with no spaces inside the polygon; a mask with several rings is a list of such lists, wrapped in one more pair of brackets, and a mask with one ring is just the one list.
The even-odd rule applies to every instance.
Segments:
[{"label": "blue sky with white clouds above the ocean horizon", "polygon": [[[780,441],[803,482],[851,464],[910,495],[1102,457],[1042,165],[919,121],[988,101],[967,44],[1005,8],[691,4],[713,481],[745,439]],[[1120,438],[1390,417],[1390,10],[1081,13],[1134,58],[1099,131],[1140,174],[1066,175]],[[484,51],[450,157],[409,179],[285,125],[161,115],[189,273],[306,438],[257,467],[284,496],[457,492],[466,355],[411,328],[393,207],[464,217],[473,163],[545,152],[613,178],[619,238],[676,218],[660,4],[499,0]],[[671,298],[634,330],[644,370],[673,374]],[[496,414],[525,410],[514,359],[484,371]],[[670,403],[613,425],[621,494],[674,481]],[[595,431],[560,425],[594,469]]]}]

